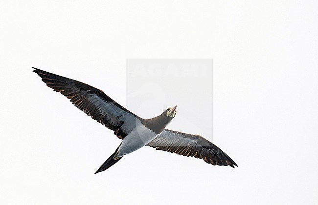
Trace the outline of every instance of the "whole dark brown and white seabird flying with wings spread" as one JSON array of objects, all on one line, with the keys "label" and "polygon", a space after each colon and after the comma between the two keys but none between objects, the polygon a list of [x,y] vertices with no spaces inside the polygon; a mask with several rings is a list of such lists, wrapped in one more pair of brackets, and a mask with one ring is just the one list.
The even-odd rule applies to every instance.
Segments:
[{"label": "whole dark brown and white seabird flying with wings spread", "polygon": [[126,154],[145,145],[157,150],[203,159],[208,164],[229,165],[233,168],[234,165],[237,166],[219,147],[203,137],[165,129],[176,116],[177,105],[166,109],[155,118],[142,119],[108,97],[102,90],[83,82],[32,68],[34,69],[32,71],[37,73],[48,87],[62,93],[76,107],[113,130],[114,134],[122,140],[114,154],[101,165],[96,173],[105,171]]}]

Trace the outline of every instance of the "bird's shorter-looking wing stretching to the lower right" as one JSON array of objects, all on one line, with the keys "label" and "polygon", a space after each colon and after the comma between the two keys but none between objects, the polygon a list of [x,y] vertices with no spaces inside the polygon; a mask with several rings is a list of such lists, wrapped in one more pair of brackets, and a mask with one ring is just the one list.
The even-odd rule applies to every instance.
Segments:
[{"label": "bird's shorter-looking wing stretching to the lower right", "polygon": [[158,150],[173,152],[183,156],[203,159],[213,165],[234,168],[235,162],[219,147],[199,135],[191,135],[164,129],[157,138],[147,144]]}]

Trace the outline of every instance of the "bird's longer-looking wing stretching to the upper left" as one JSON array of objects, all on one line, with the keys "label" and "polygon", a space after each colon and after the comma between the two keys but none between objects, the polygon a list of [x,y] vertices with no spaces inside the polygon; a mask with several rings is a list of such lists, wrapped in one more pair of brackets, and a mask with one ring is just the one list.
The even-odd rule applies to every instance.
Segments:
[{"label": "bird's longer-looking wing stretching to the upper left", "polygon": [[114,134],[123,139],[143,119],[108,97],[102,90],[83,82],[58,76],[32,67],[46,85],[62,93],[92,119],[114,130]]}]

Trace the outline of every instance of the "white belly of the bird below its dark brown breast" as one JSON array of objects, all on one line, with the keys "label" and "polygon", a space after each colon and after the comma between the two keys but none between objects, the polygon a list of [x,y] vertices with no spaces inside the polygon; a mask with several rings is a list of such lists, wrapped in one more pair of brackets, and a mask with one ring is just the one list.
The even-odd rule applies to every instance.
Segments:
[{"label": "white belly of the bird below its dark brown breast", "polygon": [[136,126],[122,141],[118,149],[118,157],[132,153],[158,136],[143,124]]}]

